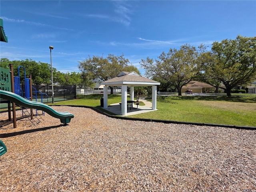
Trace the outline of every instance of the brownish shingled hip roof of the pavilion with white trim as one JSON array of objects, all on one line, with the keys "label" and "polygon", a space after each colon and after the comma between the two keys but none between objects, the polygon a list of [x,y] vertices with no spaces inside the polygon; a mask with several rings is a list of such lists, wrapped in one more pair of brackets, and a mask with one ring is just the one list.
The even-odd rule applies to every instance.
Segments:
[{"label": "brownish shingled hip roof of the pavilion with white trim", "polygon": [[102,85],[107,86],[154,86],[160,85],[160,82],[142,77],[136,72],[121,72],[117,77],[101,82]]}]

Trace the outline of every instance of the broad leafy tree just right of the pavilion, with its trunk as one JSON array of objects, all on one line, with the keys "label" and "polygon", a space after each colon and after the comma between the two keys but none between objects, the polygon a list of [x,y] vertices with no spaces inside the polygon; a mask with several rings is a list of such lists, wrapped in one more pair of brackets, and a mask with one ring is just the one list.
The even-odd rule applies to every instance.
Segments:
[{"label": "broad leafy tree just right of the pavilion, with its trunk", "polygon": [[168,53],[162,52],[158,59],[142,59],[140,64],[148,77],[174,86],[181,95],[182,86],[194,80],[200,72],[197,60],[204,46],[198,49],[189,44],[182,45],[179,50],[170,48]]}]

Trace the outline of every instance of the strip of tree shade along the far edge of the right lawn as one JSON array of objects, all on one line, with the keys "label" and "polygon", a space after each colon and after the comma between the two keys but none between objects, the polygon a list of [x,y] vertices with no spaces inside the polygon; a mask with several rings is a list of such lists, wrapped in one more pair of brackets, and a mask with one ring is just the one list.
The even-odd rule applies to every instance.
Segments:
[{"label": "strip of tree shade along the far edge of the right lawn", "polygon": [[203,101],[227,101],[227,102],[245,102],[256,103],[256,97],[241,96],[158,96],[160,102],[173,102],[174,100],[203,100]]}]

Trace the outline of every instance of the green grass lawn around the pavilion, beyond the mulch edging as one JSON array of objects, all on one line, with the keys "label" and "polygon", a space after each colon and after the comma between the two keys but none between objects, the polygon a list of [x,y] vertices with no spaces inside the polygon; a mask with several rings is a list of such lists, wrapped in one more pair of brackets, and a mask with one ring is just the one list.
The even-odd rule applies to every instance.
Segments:
[{"label": "green grass lawn around the pavilion, beyond the mulch edging", "polygon": [[[102,95],[56,102],[56,105],[100,106]],[[151,98],[148,99],[151,101]],[[120,95],[108,95],[108,105],[121,102]],[[156,111],[132,115],[134,118],[199,122],[236,126],[256,126],[256,97],[158,96]],[[97,107],[99,108],[99,107]]]}]

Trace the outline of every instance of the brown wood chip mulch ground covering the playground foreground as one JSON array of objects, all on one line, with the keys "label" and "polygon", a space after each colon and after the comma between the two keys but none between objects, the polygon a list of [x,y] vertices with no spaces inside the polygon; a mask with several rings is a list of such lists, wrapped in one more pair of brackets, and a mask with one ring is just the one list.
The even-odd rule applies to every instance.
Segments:
[{"label": "brown wood chip mulch ground covering the playground foreground", "polygon": [[256,191],[256,130],[53,108],[74,118],[63,126],[45,114],[36,126],[24,118],[15,129],[0,128],[8,149],[0,157],[1,192]]}]

